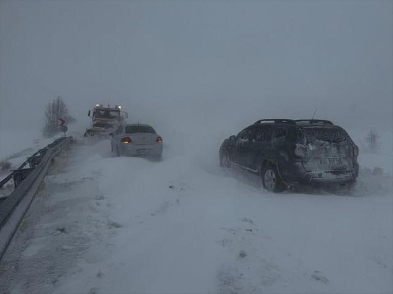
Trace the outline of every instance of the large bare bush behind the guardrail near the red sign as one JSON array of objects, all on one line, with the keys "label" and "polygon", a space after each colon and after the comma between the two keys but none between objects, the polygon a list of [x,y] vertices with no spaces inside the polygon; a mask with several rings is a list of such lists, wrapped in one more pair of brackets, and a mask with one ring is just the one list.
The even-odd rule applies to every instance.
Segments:
[{"label": "large bare bush behind the guardrail near the red sign", "polygon": [[45,137],[52,137],[59,132],[59,118],[64,119],[66,123],[75,122],[75,118],[69,115],[67,105],[60,96],[46,105],[42,129]]}]

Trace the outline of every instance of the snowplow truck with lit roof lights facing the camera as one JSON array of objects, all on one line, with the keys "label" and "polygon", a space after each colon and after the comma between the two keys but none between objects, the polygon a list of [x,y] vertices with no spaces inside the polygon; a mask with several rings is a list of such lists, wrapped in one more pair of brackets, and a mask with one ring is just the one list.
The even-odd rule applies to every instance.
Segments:
[{"label": "snowplow truck with lit roof lights facing the camera", "polygon": [[87,113],[92,118],[92,125],[86,129],[85,137],[89,136],[107,136],[114,133],[117,128],[122,125],[128,113],[121,111],[121,106],[115,105],[111,107],[95,104],[94,109]]}]

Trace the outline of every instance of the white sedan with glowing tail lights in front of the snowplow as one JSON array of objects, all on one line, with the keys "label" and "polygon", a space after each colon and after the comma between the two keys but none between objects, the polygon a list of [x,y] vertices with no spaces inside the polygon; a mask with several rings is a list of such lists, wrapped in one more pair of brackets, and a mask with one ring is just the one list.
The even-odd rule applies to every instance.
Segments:
[{"label": "white sedan with glowing tail lights in front of the snowplow", "polygon": [[161,157],[162,137],[147,124],[125,124],[112,134],[112,152],[117,156]]}]

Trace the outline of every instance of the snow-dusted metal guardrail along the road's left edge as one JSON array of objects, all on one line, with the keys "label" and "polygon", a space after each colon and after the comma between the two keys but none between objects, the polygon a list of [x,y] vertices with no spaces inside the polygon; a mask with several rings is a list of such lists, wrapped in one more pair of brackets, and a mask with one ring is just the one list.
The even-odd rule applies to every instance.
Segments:
[{"label": "snow-dusted metal guardrail along the road's left edge", "polygon": [[72,137],[56,139],[38,150],[0,181],[0,189],[13,180],[14,191],[0,203],[0,260],[28,210],[52,159],[72,142]]}]

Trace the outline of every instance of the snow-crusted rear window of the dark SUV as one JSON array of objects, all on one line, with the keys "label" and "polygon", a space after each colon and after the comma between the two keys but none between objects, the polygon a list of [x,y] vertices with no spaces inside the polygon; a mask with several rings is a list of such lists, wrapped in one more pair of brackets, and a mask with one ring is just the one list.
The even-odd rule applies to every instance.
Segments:
[{"label": "snow-crusted rear window of the dark SUV", "polygon": [[336,127],[303,127],[301,133],[306,143],[315,141],[339,143],[347,140],[346,133]]}]

